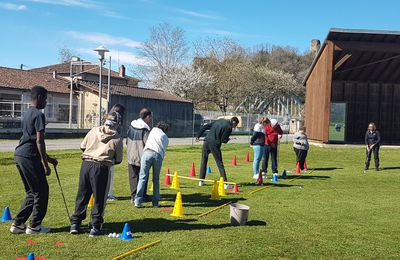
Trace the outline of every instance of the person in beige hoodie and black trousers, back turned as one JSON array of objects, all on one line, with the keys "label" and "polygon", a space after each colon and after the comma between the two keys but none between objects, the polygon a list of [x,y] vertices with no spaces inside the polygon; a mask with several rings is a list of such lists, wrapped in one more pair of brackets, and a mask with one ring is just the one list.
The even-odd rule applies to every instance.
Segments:
[{"label": "person in beige hoodie and black trousers, back turned", "polygon": [[103,235],[103,213],[107,199],[109,168],[122,161],[122,138],[118,133],[121,115],[112,112],[107,115],[103,126],[94,127],[81,143],[82,166],[79,176],[75,213],[71,217],[71,234],[78,234],[82,220],[86,218],[89,199],[93,194],[92,229],[89,237]]}]

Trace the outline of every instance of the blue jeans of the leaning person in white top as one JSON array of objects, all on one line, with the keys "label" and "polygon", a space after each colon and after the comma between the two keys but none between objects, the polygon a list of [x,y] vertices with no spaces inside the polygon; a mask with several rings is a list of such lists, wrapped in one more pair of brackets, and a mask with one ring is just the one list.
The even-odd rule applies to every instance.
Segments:
[{"label": "blue jeans of the leaning person in white top", "polygon": [[153,205],[158,206],[160,200],[160,171],[163,158],[159,153],[145,150],[140,161],[139,183],[135,196],[135,204],[143,202],[143,194],[149,179],[150,167],[153,168]]}]

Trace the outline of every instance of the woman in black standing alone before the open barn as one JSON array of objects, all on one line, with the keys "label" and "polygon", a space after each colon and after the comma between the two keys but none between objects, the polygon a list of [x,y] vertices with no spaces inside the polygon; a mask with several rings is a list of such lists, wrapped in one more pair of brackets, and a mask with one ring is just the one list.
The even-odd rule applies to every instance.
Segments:
[{"label": "woman in black standing alone before the open barn", "polygon": [[365,145],[366,145],[366,155],[367,158],[365,160],[365,168],[364,170],[368,170],[369,163],[371,161],[371,153],[374,153],[375,159],[375,170],[379,171],[379,146],[381,143],[381,135],[379,131],[376,130],[375,123],[371,122],[368,125],[367,132],[365,133]]}]

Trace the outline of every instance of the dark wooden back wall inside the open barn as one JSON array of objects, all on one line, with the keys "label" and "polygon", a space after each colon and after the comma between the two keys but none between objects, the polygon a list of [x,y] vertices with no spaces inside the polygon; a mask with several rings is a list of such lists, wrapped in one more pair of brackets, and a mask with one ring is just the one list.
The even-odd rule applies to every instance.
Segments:
[{"label": "dark wooden back wall inside the open barn", "polygon": [[334,80],[331,101],[347,103],[346,142],[364,142],[375,122],[384,143],[400,144],[400,84]]}]

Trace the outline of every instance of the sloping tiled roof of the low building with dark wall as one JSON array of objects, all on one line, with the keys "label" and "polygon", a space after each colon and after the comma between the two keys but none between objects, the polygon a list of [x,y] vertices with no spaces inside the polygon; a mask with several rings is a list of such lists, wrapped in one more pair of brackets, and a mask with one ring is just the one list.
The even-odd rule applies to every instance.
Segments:
[{"label": "sloping tiled roof of the low building with dark wall", "polygon": [[[82,86],[86,86],[90,89],[96,90],[96,91],[98,90],[98,85],[99,85],[97,82],[83,81],[83,80],[80,80],[79,84]],[[107,84],[103,85],[103,90],[104,90],[104,93],[107,93]],[[173,94],[168,93],[163,90],[129,87],[129,86],[124,86],[124,85],[111,85],[111,94],[112,95],[120,95],[120,96],[132,96],[132,97],[139,97],[139,98],[192,103],[184,98],[173,95]]]}]

